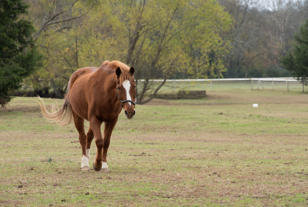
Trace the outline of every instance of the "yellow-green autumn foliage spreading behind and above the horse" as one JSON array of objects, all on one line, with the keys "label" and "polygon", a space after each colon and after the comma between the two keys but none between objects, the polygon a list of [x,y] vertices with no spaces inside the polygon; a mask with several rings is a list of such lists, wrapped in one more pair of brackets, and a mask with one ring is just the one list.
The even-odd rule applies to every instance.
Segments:
[{"label": "yellow-green autumn foliage spreading behind and above the horse", "polygon": [[[32,5],[31,17],[38,30],[42,22],[37,20],[42,18],[38,5],[46,14],[51,7],[54,13],[58,7],[65,11],[71,8],[65,0],[60,0],[58,7],[39,2]],[[84,5],[77,1],[72,16],[82,10]],[[43,67],[26,79],[26,84],[35,90],[53,89],[54,97],[61,97],[75,70],[99,67],[106,59],[134,66],[136,79],[167,79],[175,73],[222,77],[229,43],[221,38],[221,31],[229,24],[229,15],[213,0],[101,1],[89,15],[41,32],[36,45],[44,54]],[[139,84],[140,101],[158,88],[148,82]]]}]

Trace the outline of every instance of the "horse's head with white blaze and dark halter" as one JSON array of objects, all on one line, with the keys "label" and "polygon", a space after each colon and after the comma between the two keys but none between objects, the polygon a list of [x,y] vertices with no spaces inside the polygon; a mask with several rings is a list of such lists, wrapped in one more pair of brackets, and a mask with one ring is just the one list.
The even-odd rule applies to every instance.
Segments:
[{"label": "horse's head with white blaze and dark halter", "polygon": [[134,73],[134,67],[131,67],[128,71],[121,70],[120,67],[117,67],[115,70],[116,91],[127,119],[133,119],[136,114],[136,83]]}]

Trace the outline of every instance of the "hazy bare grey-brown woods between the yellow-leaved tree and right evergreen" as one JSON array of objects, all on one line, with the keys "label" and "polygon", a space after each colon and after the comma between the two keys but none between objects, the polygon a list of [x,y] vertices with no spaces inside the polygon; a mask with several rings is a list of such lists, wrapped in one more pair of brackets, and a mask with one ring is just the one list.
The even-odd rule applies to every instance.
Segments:
[{"label": "hazy bare grey-brown woods between the yellow-leaved tree and right evergreen", "polygon": [[[279,62],[293,49],[294,34],[308,18],[308,1],[218,0],[232,18],[224,39],[231,40],[223,75],[288,77]],[[265,4],[263,4],[263,3]]]}]

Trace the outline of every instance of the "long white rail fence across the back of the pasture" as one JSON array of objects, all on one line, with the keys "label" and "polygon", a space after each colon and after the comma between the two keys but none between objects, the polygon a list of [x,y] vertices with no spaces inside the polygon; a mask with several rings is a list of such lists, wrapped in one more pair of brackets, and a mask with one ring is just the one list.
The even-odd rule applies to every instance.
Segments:
[{"label": "long white rail fence across the back of the pasture", "polygon": [[[143,79],[138,80],[144,82]],[[149,80],[153,90],[164,80]],[[142,84],[138,84],[141,89]],[[226,78],[226,79],[167,79],[159,93],[175,93],[178,90],[284,90],[284,91],[308,91],[300,80],[293,77],[283,78]]]}]

